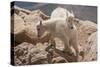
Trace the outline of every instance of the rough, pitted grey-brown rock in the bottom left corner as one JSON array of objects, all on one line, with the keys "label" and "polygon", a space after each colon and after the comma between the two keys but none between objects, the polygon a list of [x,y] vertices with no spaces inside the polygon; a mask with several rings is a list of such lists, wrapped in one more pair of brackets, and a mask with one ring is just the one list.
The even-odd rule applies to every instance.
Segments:
[{"label": "rough, pitted grey-brown rock in the bottom left corner", "polygon": [[30,50],[34,46],[30,43],[23,42],[18,46],[14,47],[14,64],[15,65],[26,65],[30,62]]}]

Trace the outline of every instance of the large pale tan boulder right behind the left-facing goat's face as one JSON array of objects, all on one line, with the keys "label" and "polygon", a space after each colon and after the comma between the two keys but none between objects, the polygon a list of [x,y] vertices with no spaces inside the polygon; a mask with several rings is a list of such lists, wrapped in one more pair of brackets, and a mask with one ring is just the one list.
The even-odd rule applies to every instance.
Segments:
[{"label": "large pale tan boulder right behind the left-facing goat's face", "polygon": [[30,38],[37,38],[36,26],[40,23],[40,20],[44,20],[44,18],[41,15],[43,15],[43,17],[47,17],[40,10],[35,10],[24,18],[26,26],[25,31]]}]

